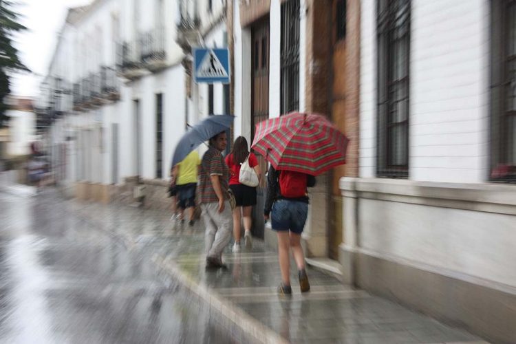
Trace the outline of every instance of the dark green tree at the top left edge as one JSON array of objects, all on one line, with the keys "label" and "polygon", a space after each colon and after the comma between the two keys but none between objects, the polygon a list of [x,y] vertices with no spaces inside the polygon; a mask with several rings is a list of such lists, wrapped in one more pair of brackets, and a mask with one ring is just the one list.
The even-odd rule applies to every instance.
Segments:
[{"label": "dark green tree at the top left edge", "polygon": [[0,0],[0,127],[5,126],[7,106],[4,98],[10,93],[10,72],[29,69],[21,63],[19,51],[14,46],[13,36],[17,32],[27,30],[19,23],[20,15],[14,11],[14,3]]}]

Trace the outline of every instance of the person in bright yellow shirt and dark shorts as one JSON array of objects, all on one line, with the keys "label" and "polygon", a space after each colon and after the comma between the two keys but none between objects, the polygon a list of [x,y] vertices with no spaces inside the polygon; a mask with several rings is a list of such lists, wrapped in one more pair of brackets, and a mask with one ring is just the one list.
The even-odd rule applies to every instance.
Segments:
[{"label": "person in bright yellow shirt and dark shorts", "polygon": [[189,225],[193,226],[195,214],[195,191],[197,189],[197,171],[201,159],[197,151],[191,151],[186,158],[175,167],[175,185],[178,187],[179,218],[184,222],[184,211],[188,209]]}]

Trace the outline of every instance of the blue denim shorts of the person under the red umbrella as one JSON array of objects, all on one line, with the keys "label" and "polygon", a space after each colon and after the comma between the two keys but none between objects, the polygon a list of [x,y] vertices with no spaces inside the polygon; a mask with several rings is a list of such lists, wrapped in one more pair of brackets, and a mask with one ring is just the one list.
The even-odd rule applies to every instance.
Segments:
[{"label": "blue denim shorts of the person under the red umbrella", "polygon": [[308,215],[308,203],[301,201],[277,200],[272,204],[270,224],[272,230],[290,230],[301,234]]}]

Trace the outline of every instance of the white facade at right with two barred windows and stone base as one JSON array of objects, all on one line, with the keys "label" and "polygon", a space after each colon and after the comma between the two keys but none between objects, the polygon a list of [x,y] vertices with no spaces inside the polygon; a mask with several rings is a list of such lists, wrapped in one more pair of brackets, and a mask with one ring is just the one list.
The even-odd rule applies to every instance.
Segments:
[{"label": "white facade at right with two barred windows and stone base", "polygon": [[360,173],[341,180],[347,281],[507,342],[515,13],[504,0],[362,0]]}]

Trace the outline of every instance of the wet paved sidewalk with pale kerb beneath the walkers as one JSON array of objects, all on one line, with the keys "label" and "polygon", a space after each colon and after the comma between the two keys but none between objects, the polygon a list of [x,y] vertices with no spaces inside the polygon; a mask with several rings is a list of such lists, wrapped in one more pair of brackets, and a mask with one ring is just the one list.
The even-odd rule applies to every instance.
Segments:
[{"label": "wet paved sidewalk with pale kerb beneath the walkers", "polygon": [[144,252],[258,343],[485,343],[313,268],[309,293],[299,292],[294,268],[292,297],[280,297],[277,254],[257,239],[251,252],[235,255],[228,246],[228,270],[206,270],[202,223],[181,226],[168,213],[125,206],[74,202],[73,208],[130,250]]}]

